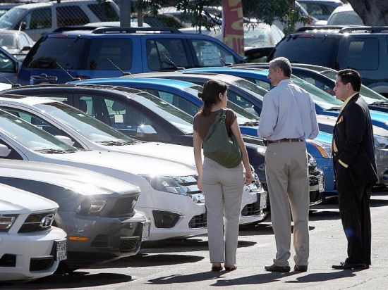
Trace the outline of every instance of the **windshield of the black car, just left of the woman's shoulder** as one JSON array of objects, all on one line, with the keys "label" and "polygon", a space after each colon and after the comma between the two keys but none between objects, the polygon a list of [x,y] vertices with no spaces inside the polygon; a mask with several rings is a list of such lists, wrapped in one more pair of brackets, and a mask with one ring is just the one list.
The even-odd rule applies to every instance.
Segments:
[{"label": "windshield of the black car, just left of the woman's shoulder", "polygon": [[181,111],[180,109],[172,106],[171,104],[159,99],[157,96],[153,96],[149,93],[136,94],[139,98],[134,98],[146,108],[150,109],[164,120],[169,121],[179,130],[186,134],[193,133],[193,116]]}]

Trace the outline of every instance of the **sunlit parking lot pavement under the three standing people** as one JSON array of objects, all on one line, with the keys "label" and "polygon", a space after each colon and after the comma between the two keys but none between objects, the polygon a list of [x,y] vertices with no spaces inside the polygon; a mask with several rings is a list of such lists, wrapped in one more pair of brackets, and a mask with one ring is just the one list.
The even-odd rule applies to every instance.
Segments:
[{"label": "sunlit parking lot pavement under the three standing people", "polygon": [[[234,272],[210,272],[207,237],[159,241],[145,245],[140,255],[52,275],[28,284],[4,284],[0,289],[387,289],[388,193],[373,194],[372,266],[369,270],[332,270],[346,258],[346,239],[335,203],[310,212],[308,272],[265,272],[272,264],[274,235],[270,223],[240,230]],[[293,254],[293,251],[291,251]],[[293,260],[290,259],[291,269]]]}]

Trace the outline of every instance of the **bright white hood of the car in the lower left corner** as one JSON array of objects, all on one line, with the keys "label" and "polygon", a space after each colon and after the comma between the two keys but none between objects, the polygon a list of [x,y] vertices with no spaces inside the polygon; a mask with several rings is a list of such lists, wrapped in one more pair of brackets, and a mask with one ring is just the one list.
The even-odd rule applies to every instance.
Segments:
[{"label": "bright white hood of the car in the lower left corner", "polygon": [[28,191],[0,184],[0,213],[30,213],[39,210],[56,209],[58,204]]}]

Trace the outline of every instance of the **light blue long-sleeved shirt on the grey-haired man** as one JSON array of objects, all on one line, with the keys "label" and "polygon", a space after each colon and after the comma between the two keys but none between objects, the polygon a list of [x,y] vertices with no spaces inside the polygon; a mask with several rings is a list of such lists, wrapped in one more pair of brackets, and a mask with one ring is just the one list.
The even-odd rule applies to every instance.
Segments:
[{"label": "light blue long-sleeved shirt on the grey-haired man", "polygon": [[260,137],[272,141],[314,139],[318,133],[314,101],[292,80],[281,80],[265,94],[258,129]]}]

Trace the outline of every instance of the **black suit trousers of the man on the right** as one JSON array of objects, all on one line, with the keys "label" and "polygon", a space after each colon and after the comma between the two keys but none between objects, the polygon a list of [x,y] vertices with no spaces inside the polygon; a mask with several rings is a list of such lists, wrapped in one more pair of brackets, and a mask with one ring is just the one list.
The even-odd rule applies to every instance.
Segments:
[{"label": "black suit trousers of the man on the right", "polygon": [[[339,214],[348,240],[346,262],[370,265],[372,231],[369,201],[372,186],[360,184],[355,187],[346,168],[341,168],[340,164],[334,167],[337,168]],[[358,196],[357,191],[362,194]]]}]

